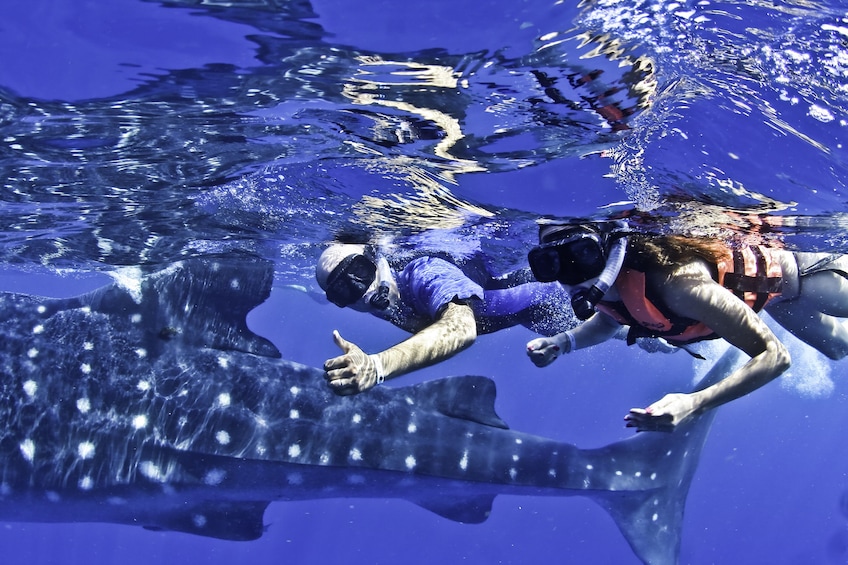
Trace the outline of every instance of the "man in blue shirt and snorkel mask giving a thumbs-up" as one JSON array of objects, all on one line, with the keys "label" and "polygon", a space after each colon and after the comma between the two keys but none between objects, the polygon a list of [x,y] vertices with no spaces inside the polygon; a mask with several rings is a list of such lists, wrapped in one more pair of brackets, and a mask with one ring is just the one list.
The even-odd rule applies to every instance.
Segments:
[{"label": "man in blue shirt and snorkel mask giving a thumbs-up", "polygon": [[523,325],[554,335],[574,325],[561,303],[568,295],[560,285],[533,281],[529,273],[523,279],[521,273],[493,279],[481,276],[479,269],[471,270],[434,256],[393,269],[373,247],[329,246],[315,272],[327,299],[388,320],[412,334],[368,355],[333,332],[342,355],[324,363],[329,386],[338,394],[356,394],[447,359],[480,334]]}]

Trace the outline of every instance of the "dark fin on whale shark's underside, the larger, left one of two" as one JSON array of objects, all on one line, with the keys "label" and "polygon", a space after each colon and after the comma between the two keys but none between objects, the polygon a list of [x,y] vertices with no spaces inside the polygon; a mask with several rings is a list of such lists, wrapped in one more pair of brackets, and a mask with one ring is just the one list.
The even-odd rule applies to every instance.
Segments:
[{"label": "dark fin on whale shark's underside, the larger, left one of two", "polygon": [[251,541],[265,532],[269,502],[203,502],[157,516],[147,530],[173,531],[229,541]]}]

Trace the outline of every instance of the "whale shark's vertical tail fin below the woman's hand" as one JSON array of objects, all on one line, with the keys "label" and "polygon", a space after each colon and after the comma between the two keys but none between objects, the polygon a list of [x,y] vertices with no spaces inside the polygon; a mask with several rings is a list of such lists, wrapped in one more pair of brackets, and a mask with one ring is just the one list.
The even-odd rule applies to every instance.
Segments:
[{"label": "whale shark's vertical tail fin below the woman's hand", "polygon": [[[725,378],[740,357],[738,349],[728,349],[698,387]],[[620,476],[618,469],[613,471],[616,486],[594,492],[592,497],[607,510],[644,563],[667,565],[678,561],[686,497],[714,417],[715,410],[710,410],[670,434],[640,433],[594,450],[605,461],[626,461],[627,473],[633,475],[634,486],[628,488],[628,478]],[[641,482],[636,487],[636,479],[648,479],[656,487],[644,488]]]}]

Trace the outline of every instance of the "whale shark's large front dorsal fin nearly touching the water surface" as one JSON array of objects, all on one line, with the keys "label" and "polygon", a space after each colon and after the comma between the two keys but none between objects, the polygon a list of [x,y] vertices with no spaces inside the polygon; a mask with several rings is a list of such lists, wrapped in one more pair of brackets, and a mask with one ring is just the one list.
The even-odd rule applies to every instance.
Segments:
[{"label": "whale shark's large front dorsal fin nearly touching the water surface", "polygon": [[116,276],[114,285],[76,300],[133,319],[151,346],[173,342],[280,357],[270,341],[247,326],[247,314],[268,298],[273,278],[273,264],[257,257],[192,258]]}]

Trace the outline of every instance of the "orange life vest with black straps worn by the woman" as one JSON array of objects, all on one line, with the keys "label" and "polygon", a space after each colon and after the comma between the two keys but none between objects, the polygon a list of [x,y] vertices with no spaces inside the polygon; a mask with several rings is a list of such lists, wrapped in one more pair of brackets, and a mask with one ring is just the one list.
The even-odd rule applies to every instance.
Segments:
[{"label": "orange life vest with black straps worn by the woman", "polygon": [[[755,312],[781,293],[783,271],[776,250],[750,246],[727,250],[715,265],[714,280],[727,288]],[[632,267],[621,270],[615,280],[620,300],[601,301],[598,310],[622,325],[630,326],[627,342],[637,337],[663,337],[676,344],[718,337],[699,320],[678,316],[645,286],[645,273]]]}]

